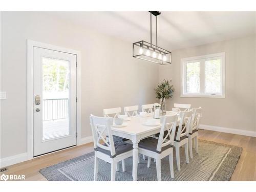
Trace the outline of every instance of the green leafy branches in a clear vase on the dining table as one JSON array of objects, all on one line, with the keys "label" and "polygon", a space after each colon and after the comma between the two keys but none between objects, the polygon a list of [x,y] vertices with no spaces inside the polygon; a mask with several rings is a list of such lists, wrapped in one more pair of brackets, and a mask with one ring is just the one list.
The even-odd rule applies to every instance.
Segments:
[{"label": "green leafy branches in a clear vase on the dining table", "polygon": [[156,91],[156,98],[160,99],[162,113],[166,113],[166,99],[172,98],[175,92],[174,86],[170,84],[172,80],[163,80],[158,84]]}]

